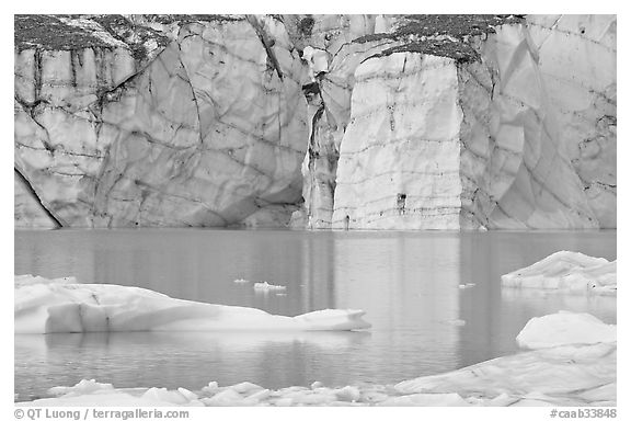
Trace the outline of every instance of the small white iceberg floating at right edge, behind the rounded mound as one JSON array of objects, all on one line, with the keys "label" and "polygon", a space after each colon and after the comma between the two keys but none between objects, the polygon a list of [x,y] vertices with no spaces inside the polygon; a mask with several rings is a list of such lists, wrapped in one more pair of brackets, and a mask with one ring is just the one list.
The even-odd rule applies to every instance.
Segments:
[{"label": "small white iceberg floating at right edge, behind the rounded mound", "polygon": [[502,275],[502,285],[580,294],[616,294],[616,261],[559,251],[531,266]]}]

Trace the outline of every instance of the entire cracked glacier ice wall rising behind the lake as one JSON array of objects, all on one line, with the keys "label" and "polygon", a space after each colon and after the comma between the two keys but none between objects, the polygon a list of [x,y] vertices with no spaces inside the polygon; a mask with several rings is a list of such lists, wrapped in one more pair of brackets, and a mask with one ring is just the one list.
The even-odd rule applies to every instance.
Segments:
[{"label": "entire cracked glacier ice wall rising behind the lake", "polygon": [[616,107],[616,16],[16,16],[15,220],[610,228]]}]

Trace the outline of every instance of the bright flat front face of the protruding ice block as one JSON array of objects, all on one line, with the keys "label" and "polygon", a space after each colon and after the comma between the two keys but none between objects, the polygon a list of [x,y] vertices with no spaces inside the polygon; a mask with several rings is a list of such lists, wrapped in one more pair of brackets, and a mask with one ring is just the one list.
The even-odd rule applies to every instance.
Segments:
[{"label": "bright flat front face of the protruding ice block", "polygon": [[458,228],[457,96],[449,58],[395,53],[355,70],[333,227]]}]

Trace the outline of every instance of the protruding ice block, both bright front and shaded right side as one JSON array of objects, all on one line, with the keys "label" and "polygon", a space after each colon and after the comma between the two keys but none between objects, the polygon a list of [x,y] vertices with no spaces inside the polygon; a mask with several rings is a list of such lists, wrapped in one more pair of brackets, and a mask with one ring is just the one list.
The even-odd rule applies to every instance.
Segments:
[{"label": "protruding ice block, both bright front and shaded right side", "polygon": [[469,39],[480,60],[403,45],[355,69],[334,228],[607,226],[566,151],[529,31],[504,24]]}]

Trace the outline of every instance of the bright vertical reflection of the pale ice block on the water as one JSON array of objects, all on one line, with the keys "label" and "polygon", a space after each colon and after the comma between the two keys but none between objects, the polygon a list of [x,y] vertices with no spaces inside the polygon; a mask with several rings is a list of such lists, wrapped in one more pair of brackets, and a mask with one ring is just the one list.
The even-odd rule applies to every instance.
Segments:
[{"label": "bright vertical reflection of the pale ice block on the water", "polygon": [[449,325],[459,317],[457,234],[340,235],[335,255],[337,306],[367,309],[372,322],[363,359],[391,382],[457,367],[460,328]]}]

